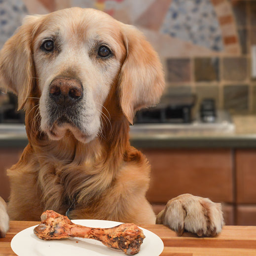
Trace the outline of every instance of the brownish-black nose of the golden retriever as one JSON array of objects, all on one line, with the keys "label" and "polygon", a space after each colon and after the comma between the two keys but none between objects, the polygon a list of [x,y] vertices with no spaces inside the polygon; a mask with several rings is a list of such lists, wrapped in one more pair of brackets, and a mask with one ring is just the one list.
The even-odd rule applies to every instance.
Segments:
[{"label": "brownish-black nose of the golden retriever", "polygon": [[55,78],[50,84],[49,95],[56,104],[71,106],[83,96],[82,83],[75,78]]}]

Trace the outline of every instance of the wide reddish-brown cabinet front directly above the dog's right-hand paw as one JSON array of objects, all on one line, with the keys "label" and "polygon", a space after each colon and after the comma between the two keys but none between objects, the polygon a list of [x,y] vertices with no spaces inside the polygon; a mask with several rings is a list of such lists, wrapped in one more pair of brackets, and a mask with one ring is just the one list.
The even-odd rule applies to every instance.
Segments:
[{"label": "wide reddish-brown cabinet front directly above the dog's right-hand paw", "polygon": [[231,150],[143,149],[151,164],[147,199],[166,203],[183,193],[233,202]]}]

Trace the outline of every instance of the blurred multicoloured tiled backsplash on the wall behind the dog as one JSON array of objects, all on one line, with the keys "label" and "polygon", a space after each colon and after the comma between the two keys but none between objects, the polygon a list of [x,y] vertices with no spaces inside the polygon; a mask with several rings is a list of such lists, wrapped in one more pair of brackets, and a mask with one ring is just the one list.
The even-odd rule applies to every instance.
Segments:
[{"label": "blurred multicoloured tiled backsplash on the wall behind the dog", "polygon": [[[0,0],[1,4],[21,0]],[[16,3],[15,3],[16,2]],[[139,27],[160,55],[170,94],[194,93],[197,105],[214,98],[231,113],[256,113],[251,46],[256,44],[256,0],[23,0],[29,13],[94,7]],[[0,9],[0,34],[3,34]],[[23,12],[23,13],[21,13]],[[26,12],[20,10],[21,15]],[[5,13],[6,15],[6,13]],[[11,17],[9,18],[11,19]],[[2,35],[0,35],[2,38]]]}]

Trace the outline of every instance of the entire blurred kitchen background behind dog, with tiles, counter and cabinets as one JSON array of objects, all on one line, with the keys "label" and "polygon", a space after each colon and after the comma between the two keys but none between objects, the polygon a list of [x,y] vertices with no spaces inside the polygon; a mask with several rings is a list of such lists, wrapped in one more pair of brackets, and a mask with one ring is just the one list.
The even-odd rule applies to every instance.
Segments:
[{"label": "entire blurred kitchen background behind dog, with tiles, counter and cabinets", "polygon": [[[0,48],[27,14],[97,8],[138,27],[166,89],[139,111],[131,144],[152,165],[155,212],[192,193],[222,202],[226,224],[256,225],[256,0],[0,0]],[[0,93],[0,196],[27,144],[16,97]]]}]

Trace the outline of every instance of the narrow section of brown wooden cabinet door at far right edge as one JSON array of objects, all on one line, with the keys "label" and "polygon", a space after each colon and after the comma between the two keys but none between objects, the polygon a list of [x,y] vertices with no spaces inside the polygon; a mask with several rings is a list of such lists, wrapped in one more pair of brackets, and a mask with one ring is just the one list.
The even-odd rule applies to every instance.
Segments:
[{"label": "narrow section of brown wooden cabinet door at far right edge", "polygon": [[256,203],[256,150],[239,149],[235,154],[237,203]]}]

